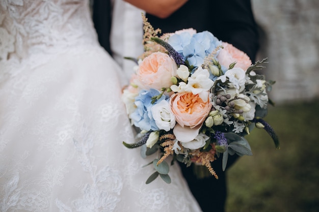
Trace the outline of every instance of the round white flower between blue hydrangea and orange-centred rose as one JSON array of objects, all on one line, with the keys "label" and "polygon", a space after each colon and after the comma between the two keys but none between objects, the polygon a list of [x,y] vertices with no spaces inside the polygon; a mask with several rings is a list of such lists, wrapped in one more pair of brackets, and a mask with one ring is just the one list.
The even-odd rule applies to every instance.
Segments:
[{"label": "round white flower between blue hydrangea and orange-centred rose", "polygon": [[169,103],[166,100],[153,105],[151,112],[159,130],[168,132],[174,128],[176,124],[175,115],[171,112]]}]

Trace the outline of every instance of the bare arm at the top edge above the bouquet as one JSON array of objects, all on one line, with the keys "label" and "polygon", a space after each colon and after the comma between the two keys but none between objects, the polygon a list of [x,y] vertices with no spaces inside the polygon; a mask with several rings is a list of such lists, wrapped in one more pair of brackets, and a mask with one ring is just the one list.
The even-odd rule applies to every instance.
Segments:
[{"label": "bare arm at the top edge above the bouquet", "polygon": [[167,18],[188,0],[124,0],[158,18]]}]

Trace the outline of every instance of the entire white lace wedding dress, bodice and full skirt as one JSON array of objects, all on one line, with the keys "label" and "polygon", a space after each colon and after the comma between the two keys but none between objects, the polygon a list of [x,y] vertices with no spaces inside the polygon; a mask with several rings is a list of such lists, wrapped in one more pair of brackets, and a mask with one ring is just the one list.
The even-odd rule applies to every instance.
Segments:
[{"label": "entire white lace wedding dress, bodice and full skirt", "polygon": [[84,0],[0,0],[0,211],[200,211],[127,149],[120,70]]}]

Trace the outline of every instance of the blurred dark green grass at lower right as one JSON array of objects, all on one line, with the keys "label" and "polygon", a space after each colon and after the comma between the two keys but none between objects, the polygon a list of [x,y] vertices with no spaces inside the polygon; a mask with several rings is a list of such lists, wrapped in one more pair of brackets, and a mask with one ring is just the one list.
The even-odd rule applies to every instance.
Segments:
[{"label": "blurred dark green grass at lower right", "polygon": [[253,156],[228,170],[227,212],[319,211],[319,100],[269,106],[265,120],[280,139],[254,129]]}]

